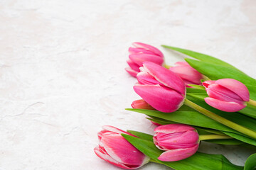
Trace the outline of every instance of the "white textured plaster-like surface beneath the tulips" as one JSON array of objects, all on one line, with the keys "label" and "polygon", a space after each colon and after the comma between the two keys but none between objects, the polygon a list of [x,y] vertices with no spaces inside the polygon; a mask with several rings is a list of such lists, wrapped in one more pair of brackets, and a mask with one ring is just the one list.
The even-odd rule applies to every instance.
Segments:
[{"label": "white textured plaster-like surface beneath the tulips", "polygon": [[[134,41],[184,47],[256,78],[256,1],[0,1],[0,168],[118,169],[95,156],[102,125],[152,133],[124,72]],[[243,165],[255,151],[201,145]],[[147,164],[142,169],[169,169]]]}]

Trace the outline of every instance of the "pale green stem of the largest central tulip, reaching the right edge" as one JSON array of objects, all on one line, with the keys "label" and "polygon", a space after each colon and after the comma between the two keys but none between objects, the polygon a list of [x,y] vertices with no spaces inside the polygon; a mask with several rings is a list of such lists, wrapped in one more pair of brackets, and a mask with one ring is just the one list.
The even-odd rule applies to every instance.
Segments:
[{"label": "pale green stem of the largest central tulip, reaching the right edge", "polygon": [[198,106],[196,103],[189,101],[187,98],[185,98],[184,104],[186,104],[186,106],[189,106],[189,107],[195,109],[196,111],[202,113],[203,115],[206,115],[209,118],[216,120],[218,123],[226,125],[229,128],[232,128],[233,130],[237,130],[238,132],[241,132],[242,134],[245,134],[245,135],[252,137],[253,139],[256,140],[256,132],[254,130],[250,130],[241,125],[233,123],[232,121],[227,120],[227,119],[221,117],[220,115],[216,115],[215,113],[208,111],[205,108],[202,108],[201,106]]}]

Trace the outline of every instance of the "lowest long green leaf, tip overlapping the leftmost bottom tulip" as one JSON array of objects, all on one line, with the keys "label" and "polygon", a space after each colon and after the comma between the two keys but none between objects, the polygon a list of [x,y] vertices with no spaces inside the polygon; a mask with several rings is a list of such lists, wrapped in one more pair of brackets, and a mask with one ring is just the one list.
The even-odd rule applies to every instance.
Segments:
[{"label": "lowest long green leaf, tip overlapping the leftmost bottom tulip", "polygon": [[134,147],[139,149],[146,156],[150,157],[159,164],[164,164],[176,170],[235,170],[243,169],[242,166],[236,166],[231,164],[228,159],[220,154],[203,154],[196,152],[193,156],[183,159],[178,162],[161,162],[157,159],[162,153],[161,150],[157,149],[154,142],[149,140],[143,140],[138,137],[122,134],[122,136],[130,142]]}]

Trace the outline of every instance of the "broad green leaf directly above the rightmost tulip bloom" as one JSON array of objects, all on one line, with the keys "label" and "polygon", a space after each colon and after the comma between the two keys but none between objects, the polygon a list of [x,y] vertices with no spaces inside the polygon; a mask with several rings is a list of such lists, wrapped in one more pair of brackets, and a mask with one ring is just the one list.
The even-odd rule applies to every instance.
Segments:
[{"label": "broad green leaf directly above the rightmost tulip bloom", "polygon": [[217,79],[236,79],[241,81],[247,89],[250,91],[250,98],[252,100],[256,100],[256,89],[255,84],[256,80],[252,77],[243,74],[237,69],[233,69],[230,67],[224,67],[218,64],[212,64],[208,62],[201,62],[197,60],[186,59],[186,62],[191,65],[194,69],[198,70],[202,74],[206,75],[209,79],[217,80]]}]

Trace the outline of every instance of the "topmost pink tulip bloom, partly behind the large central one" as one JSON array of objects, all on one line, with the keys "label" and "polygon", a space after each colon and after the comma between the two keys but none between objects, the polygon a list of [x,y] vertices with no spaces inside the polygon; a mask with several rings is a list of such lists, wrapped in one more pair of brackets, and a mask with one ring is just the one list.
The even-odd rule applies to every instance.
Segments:
[{"label": "topmost pink tulip bloom, partly behind the large central one", "polygon": [[139,73],[139,67],[142,67],[142,62],[154,62],[159,65],[164,63],[164,55],[156,47],[142,42],[134,42],[132,45],[134,47],[129,47],[130,55],[129,60],[127,60],[129,67],[125,68],[125,70],[133,77],[136,77]]}]

